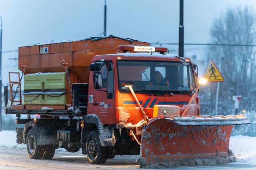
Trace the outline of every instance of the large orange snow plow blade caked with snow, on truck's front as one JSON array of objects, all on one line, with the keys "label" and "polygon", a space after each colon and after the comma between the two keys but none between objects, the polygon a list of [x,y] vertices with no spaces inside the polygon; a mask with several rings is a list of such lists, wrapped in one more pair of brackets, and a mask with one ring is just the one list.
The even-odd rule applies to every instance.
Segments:
[{"label": "large orange snow plow blade caked with snow, on truck's front", "polygon": [[234,125],[250,124],[243,115],[158,116],[146,124],[141,136],[141,168],[227,164]]}]

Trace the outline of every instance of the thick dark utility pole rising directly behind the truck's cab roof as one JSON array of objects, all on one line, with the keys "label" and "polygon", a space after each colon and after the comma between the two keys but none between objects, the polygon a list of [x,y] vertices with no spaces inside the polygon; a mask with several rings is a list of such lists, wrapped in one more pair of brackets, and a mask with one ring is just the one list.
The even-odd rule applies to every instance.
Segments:
[{"label": "thick dark utility pole rising directly behind the truck's cab roof", "polygon": [[183,0],[180,0],[179,56],[184,57]]}]

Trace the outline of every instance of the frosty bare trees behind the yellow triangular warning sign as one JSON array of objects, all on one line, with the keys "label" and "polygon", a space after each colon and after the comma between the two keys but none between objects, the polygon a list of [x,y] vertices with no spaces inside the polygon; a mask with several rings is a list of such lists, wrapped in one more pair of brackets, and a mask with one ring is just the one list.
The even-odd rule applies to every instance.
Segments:
[{"label": "frosty bare trees behind the yellow triangular warning sign", "polygon": [[[216,18],[210,31],[211,43],[219,44],[256,44],[256,16],[253,8],[238,6],[228,10]],[[213,59],[220,63],[222,57],[221,73],[224,82],[220,83],[218,114],[234,114],[232,96],[242,96],[240,109],[255,110],[256,108],[256,69],[255,47],[244,46],[217,46],[206,51],[208,60]],[[215,98],[216,83],[212,84]],[[201,90],[202,101],[210,101],[210,86]],[[213,100],[215,101],[215,100]],[[209,114],[210,102],[203,102],[202,114]]]}]

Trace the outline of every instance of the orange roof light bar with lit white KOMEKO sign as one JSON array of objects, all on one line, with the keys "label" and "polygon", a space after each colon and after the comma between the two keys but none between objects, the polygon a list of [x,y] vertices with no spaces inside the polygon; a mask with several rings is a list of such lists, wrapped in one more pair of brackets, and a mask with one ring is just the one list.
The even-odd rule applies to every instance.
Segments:
[{"label": "orange roof light bar with lit white KOMEKO sign", "polygon": [[118,51],[141,51],[141,52],[167,52],[164,47],[150,47],[150,46],[134,46],[134,45],[119,45],[116,48]]}]

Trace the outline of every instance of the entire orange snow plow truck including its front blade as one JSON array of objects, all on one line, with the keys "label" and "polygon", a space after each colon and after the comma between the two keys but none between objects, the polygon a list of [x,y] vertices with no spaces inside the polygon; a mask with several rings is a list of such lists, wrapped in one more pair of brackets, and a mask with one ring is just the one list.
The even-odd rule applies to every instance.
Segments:
[{"label": "entire orange snow plow truck including its front blade", "polygon": [[200,115],[196,64],[149,45],[110,35],[19,47],[21,74],[4,87],[17,143],[32,159],[64,148],[92,164],[134,154],[141,168],[233,162],[230,133],[248,118]]}]

